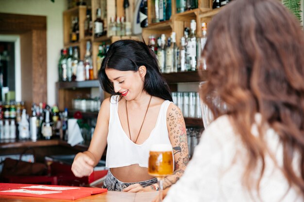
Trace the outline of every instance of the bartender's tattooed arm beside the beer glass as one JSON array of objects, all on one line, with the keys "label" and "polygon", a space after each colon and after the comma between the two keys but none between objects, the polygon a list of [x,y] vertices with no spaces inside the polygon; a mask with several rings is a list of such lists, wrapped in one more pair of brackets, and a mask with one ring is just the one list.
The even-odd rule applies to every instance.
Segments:
[{"label": "bartender's tattooed arm beside the beer glass", "polygon": [[173,103],[167,111],[167,127],[174,154],[174,173],[164,178],[164,189],[176,183],[189,162],[185,120],[181,110]]}]

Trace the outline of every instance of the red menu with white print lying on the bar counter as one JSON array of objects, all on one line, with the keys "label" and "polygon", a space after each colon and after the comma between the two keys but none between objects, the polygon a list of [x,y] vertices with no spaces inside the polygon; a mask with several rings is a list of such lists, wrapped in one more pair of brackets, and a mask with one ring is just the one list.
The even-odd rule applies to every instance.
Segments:
[{"label": "red menu with white print lying on the bar counter", "polygon": [[0,195],[76,200],[106,192],[105,188],[0,183]]}]

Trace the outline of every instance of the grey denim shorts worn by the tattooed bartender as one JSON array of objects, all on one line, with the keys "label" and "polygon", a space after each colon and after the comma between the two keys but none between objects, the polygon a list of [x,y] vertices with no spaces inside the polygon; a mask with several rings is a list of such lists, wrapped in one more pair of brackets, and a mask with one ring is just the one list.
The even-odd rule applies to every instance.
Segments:
[{"label": "grey denim shorts worn by the tattooed bartender", "polygon": [[130,185],[133,184],[140,184],[143,187],[153,185],[157,183],[157,178],[153,178],[151,180],[142,181],[142,182],[132,182],[132,183],[124,183],[119,181],[116,177],[113,176],[111,171],[108,171],[108,174],[104,180],[103,188],[107,188],[108,191],[122,191],[123,189],[127,188]]}]

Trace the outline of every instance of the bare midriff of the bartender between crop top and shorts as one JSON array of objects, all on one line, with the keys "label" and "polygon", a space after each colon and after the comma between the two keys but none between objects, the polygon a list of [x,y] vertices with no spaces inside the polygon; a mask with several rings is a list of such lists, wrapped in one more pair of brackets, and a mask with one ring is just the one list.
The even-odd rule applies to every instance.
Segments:
[{"label": "bare midriff of the bartender between crop top and shorts", "polygon": [[110,170],[119,181],[124,183],[141,182],[154,178],[148,174],[148,168],[140,167],[138,164],[111,168]]}]

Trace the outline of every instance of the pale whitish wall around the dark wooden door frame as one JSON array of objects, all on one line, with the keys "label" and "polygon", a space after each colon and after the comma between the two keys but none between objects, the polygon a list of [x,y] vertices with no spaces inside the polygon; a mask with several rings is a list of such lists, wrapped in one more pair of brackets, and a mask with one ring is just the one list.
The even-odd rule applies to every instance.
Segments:
[{"label": "pale whitish wall around the dark wooden door frame", "polygon": [[0,0],[0,12],[47,16],[47,84],[48,104],[54,105],[55,82],[58,81],[57,62],[63,47],[63,17],[68,8],[66,0]]}]

